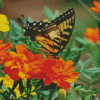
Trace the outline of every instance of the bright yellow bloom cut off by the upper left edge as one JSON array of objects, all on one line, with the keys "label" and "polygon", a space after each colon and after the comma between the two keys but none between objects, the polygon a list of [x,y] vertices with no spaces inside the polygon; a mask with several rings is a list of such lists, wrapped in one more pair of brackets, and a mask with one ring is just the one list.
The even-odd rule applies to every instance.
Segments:
[{"label": "bright yellow bloom cut off by the upper left edge", "polygon": [[10,30],[9,21],[7,21],[7,17],[3,14],[0,14],[0,31],[6,32]]}]

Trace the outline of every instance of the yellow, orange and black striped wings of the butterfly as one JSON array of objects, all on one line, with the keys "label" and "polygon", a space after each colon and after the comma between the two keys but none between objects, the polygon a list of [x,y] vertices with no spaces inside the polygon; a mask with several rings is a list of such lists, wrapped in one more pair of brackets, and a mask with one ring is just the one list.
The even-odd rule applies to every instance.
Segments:
[{"label": "yellow, orange and black striped wings of the butterfly", "polygon": [[75,23],[74,9],[68,9],[59,17],[51,21],[51,23],[42,29],[48,37],[37,35],[35,40],[42,46],[39,48],[47,55],[56,57],[67,45]]}]

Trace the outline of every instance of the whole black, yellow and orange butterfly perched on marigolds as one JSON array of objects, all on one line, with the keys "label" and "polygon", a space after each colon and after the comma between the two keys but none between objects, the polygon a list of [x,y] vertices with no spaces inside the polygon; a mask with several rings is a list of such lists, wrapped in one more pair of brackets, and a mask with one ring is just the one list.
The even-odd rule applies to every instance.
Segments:
[{"label": "whole black, yellow and orange butterfly perched on marigolds", "polygon": [[[22,17],[25,18],[24,15]],[[17,20],[24,24],[20,18]],[[75,11],[70,8],[51,22],[29,22],[26,19],[26,23],[23,27],[26,30],[25,35],[41,44],[39,50],[50,57],[59,58],[58,53],[65,48],[71,37],[75,24]]]}]

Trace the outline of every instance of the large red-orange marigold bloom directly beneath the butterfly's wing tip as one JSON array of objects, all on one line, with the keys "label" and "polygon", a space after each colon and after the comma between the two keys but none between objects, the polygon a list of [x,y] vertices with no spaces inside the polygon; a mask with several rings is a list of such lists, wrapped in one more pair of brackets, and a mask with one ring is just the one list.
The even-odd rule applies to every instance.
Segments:
[{"label": "large red-orange marigold bloom directly beneath the butterfly's wing tip", "polygon": [[56,83],[57,86],[61,86],[67,90],[70,88],[70,83],[74,83],[79,77],[78,72],[73,72],[75,69],[72,67],[74,62],[68,60],[67,62],[63,59],[56,59],[49,57],[44,61],[44,65],[41,68],[41,74],[37,75],[37,79],[44,78],[45,84]]}]

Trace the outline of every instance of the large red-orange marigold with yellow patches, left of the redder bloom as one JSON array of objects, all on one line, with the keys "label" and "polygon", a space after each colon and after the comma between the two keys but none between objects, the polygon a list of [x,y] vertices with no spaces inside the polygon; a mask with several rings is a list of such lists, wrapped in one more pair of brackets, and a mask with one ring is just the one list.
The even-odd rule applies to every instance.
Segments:
[{"label": "large red-orange marigold with yellow patches, left of the redder bloom", "polygon": [[42,66],[42,57],[42,54],[34,55],[23,44],[16,46],[16,52],[0,54],[0,58],[5,62],[4,72],[15,81],[24,79],[25,76],[28,79],[35,77],[41,71],[39,67]]}]

